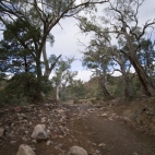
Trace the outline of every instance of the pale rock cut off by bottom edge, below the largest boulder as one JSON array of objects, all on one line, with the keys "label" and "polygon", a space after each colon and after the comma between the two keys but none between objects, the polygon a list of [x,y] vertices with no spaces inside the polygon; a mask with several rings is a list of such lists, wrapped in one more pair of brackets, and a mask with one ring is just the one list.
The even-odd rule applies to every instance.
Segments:
[{"label": "pale rock cut off by bottom edge, below the largest boulder", "polygon": [[20,145],[16,155],[36,155],[36,154],[31,146],[22,144]]}]

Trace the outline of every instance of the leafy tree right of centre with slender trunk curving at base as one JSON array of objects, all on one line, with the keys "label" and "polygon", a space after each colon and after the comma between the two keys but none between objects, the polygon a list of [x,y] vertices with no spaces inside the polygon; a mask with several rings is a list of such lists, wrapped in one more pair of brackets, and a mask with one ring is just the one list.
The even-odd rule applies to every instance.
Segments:
[{"label": "leafy tree right of centre with slender trunk curving at base", "polygon": [[92,39],[88,46],[88,51],[83,52],[83,65],[95,70],[95,75],[100,78],[100,85],[106,98],[111,98],[111,95],[107,91],[107,72],[109,70],[110,55],[106,41],[103,39]]}]

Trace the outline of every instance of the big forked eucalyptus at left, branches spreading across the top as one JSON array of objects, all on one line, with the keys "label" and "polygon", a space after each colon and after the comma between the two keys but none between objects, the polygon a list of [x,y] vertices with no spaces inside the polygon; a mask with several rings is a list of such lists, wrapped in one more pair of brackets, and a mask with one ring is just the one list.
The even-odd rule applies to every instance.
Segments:
[{"label": "big forked eucalyptus at left, branches spreading across the top", "polygon": [[[95,4],[105,3],[108,0],[84,0],[81,2],[78,0],[1,0],[0,21],[1,24],[7,27],[11,22],[16,21],[17,19],[23,23],[26,22],[31,26],[34,26],[35,31],[40,31],[39,40],[36,41],[32,39],[35,50],[37,78],[39,82],[40,76],[43,75],[40,69],[41,53],[44,56],[45,63],[44,75],[49,76],[53,69],[53,64],[56,64],[52,63],[49,65],[46,52],[46,43],[53,43],[53,36],[50,34],[51,29],[59,24],[60,20],[74,16],[83,10],[92,10]],[[20,39],[19,41],[22,44]],[[59,56],[58,59],[61,56]]]}]

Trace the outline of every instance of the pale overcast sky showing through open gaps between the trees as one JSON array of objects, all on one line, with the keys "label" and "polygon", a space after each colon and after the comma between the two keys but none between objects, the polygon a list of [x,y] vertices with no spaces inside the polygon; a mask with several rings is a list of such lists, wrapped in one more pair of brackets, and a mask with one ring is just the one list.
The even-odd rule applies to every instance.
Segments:
[{"label": "pale overcast sky showing through open gaps between the trees", "polygon": [[[155,19],[154,0],[145,0],[141,7],[139,17],[143,24],[146,20]],[[63,57],[74,57],[76,60],[73,62],[72,70],[79,71],[76,79],[88,81],[92,73],[88,70],[84,70],[82,67],[80,59],[83,55],[80,51],[84,50],[84,47],[79,46],[78,39],[87,45],[91,38],[80,34],[80,29],[76,26],[76,21],[74,19],[64,19],[60,22],[60,24],[62,28],[57,25],[51,31],[51,34],[55,36],[55,44],[53,47],[48,46],[48,56],[52,53],[59,56],[62,53]],[[115,75],[118,74],[119,73],[116,73]]]}]

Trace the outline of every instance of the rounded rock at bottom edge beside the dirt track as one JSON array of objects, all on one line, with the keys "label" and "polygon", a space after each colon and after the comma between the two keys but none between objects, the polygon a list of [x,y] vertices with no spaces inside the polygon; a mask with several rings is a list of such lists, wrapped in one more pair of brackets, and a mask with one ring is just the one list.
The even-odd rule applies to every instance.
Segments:
[{"label": "rounded rock at bottom edge beside the dirt track", "polygon": [[71,155],[88,155],[87,152],[83,147],[72,146],[70,148]]}]

